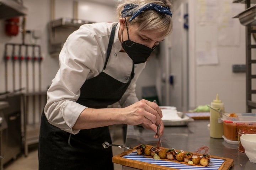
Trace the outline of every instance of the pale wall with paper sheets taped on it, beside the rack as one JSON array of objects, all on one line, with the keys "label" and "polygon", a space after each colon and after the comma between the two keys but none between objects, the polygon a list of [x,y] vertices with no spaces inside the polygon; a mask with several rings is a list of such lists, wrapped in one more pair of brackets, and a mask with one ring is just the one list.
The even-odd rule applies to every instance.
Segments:
[{"label": "pale wall with paper sheets taped on it, beside the rack", "polygon": [[225,112],[246,112],[245,27],[234,15],[245,10],[233,0],[189,1],[190,107],[210,104],[219,94]]}]

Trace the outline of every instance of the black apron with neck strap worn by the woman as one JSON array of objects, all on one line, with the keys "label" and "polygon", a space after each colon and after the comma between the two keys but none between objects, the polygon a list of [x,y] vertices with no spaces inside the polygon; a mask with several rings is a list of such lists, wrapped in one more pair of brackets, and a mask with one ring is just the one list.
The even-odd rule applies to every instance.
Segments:
[{"label": "black apron with neck strap worn by the woman", "polygon": [[[110,57],[116,25],[108,43],[105,70]],[[90,108],[106,108],[121,99],[134,77],[134,64],[129,81],[122,83],[102,71],[82,85],[76,101]],[[38,158],[39,170],[113,170],[112,149],[103,148],[103,142],[112,143],[108,126],[80,130],[73,135],[41,118]]]}]

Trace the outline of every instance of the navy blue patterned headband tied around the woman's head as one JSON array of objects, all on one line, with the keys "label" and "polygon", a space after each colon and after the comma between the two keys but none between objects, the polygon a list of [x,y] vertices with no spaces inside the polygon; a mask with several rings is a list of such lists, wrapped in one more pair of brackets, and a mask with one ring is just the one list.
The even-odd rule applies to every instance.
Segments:
[{"label": "navy blue patterned headband tied around the woman's head", "polygon": [[[127,4],[124,6],[124,9],[121,11],[122,16],[121,17],[127,17],[128,16],[128,11],[132,10],[135,8],[137,5],[135,4]],[[144,7],[140,8],[137,12],[135,12],[133,15],[129,14],[129,16],[132,15],[132,17],[129,19],[129,21],[132,21],[134,18],[136,18],[138,15],[140,15],[142,12],[146,10],[155,10],[156,12],[163,13],[165,15],[170,15],[172,16],[171,9],[169,7],[164,7],[161,5],[157,5],[154,3],[150,3],[148,5],[145,5]]]}]

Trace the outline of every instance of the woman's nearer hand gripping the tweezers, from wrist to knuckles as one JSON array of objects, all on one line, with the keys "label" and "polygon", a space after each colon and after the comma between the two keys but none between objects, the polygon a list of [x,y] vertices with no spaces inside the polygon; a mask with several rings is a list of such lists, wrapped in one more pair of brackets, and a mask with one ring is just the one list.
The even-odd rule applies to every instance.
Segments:
[{"label": "woman's nearer hand gripping the tweezers, from wrist to knuckles", "polygon": [[140,100],[128,107],[122,108],[124,123],[128,125],[158,125],[162,123],[162,111],[156,103]]}]

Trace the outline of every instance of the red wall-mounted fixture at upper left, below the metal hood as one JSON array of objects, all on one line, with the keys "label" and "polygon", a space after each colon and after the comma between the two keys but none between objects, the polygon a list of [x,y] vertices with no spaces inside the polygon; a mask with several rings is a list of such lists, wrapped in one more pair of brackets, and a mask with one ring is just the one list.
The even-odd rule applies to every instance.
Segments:
[{"label": "red wall-mounted fixture at upper left, below the metal hood", "polygon": [[9,36],[18,35],[20,18],[18,17],[10,18],[10,19],[6,19],[5,21],[6,21],[6,24],[5,24],[6,35],[9,35]]}]

